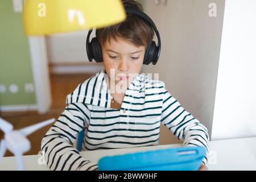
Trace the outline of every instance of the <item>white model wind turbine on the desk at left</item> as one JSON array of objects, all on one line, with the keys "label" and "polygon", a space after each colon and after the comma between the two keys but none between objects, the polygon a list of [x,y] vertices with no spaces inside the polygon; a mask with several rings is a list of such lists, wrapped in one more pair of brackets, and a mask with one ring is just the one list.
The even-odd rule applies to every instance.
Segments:
[{"label": "white model wind turbine on the desk at left", "polygon": [[24,170],[22,155],[29,151],[31,147],[30,141],[26,136],[54,121],[55,119],[52,118],[32,126],[24,127],[20,130],[13,130],[11,123],[0,118],[0,129],[5,133],[5,137],[0,141],[0,160],[2,156],[5,155],[6,149],[8,149],[16,158],[18,170]]}]

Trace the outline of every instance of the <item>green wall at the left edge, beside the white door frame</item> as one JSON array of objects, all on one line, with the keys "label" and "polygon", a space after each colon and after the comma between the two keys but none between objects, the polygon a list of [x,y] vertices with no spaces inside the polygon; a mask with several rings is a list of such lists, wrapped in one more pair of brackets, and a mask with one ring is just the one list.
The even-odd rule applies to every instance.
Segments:
[{"label": "green wall at the left edge, beside the white door frame", "polygon": [[[0,1],[0,84],[6,92],[0,93],[3,105],[36,104],[35,93],[27,93],[24,84],[34,83],[28,38],[24,35],[22,13],[14,13],[13,1]],[[10,84],[19,86],[18,93],[9,91]],[[0,108],[1,109],[1,108]]]}]

